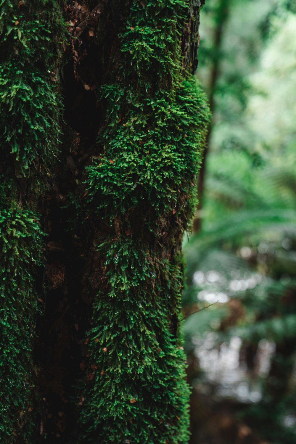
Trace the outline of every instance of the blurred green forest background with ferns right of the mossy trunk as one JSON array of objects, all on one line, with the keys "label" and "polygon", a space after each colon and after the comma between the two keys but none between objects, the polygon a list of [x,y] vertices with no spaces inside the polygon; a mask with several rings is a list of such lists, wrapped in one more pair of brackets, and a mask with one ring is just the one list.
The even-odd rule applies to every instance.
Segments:
[{"label": "blurred green forest background with ferns right of the mossy trunk", "polygon": [[296,6],[207,0],[213,113],[183,298],[191,444],[296,443]]}]

